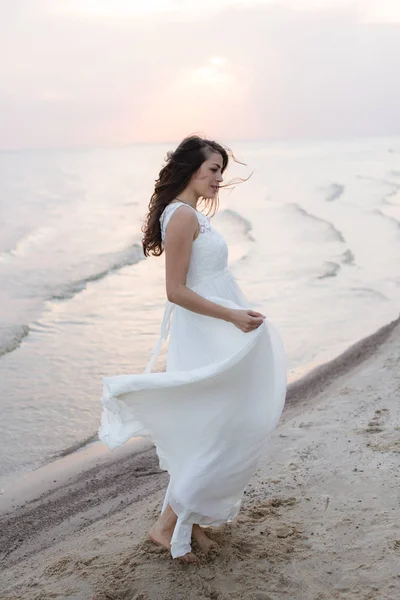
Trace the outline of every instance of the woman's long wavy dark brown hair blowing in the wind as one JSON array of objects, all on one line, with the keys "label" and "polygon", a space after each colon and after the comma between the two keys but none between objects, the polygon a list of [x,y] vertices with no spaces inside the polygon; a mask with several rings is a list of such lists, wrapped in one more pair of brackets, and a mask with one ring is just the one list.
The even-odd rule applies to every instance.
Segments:
[{"label": "woman's long wavy dark brown hair blowing in the wind", "polygon": [[[142,226],[142,246],[145,256],[151,254],[161,256],[163,253],[160,226],[160,217],[163,211],[189,185],[192,175],[214,152],[218,152],[222,156],[222,173],[228,166],[229,156],[237,163],[246,164],[236,160],[228,147],[198,135],[186,137],[176,150],[167,152],[166,164],[156,179],[154,192],[149,202],[149,210]],[[228,184],[220,185],[220,187],[231,186],[233,183],[247,181],[247,179],[239,177]],[[215,198],[201,198],[201,203],[205,204],[207,214],[214,215],[219,205],[218,194]]]}]

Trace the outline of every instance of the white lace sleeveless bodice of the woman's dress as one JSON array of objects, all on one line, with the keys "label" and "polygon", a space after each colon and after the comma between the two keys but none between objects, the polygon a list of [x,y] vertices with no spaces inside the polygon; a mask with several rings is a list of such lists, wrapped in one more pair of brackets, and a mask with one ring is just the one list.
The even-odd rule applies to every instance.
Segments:
[{"label": "white lace sleeveless bodice of the woman's dress", "polygon": [[[161,238],[164,242],[168,222],[175,210],[180,206],[189,206],[185,202],[172,202],[163,211],[160,217]],[[191,208],[200,225],[200,233],[193,240],[189,270],[186,285],[193,288],[203,281],[217,277],[228,267],[228,246],[225,239],[211,225],[209,217]]]}]

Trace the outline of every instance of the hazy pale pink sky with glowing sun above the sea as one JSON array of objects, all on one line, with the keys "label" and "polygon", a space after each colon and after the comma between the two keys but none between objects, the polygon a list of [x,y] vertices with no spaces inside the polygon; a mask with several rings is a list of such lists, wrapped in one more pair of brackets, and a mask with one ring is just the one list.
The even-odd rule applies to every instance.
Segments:
[{"label": "hazy pale pink sky with glowing sun above the sea", "polygon": [[0,0],[0,149],[400,134],[400,0]]}]

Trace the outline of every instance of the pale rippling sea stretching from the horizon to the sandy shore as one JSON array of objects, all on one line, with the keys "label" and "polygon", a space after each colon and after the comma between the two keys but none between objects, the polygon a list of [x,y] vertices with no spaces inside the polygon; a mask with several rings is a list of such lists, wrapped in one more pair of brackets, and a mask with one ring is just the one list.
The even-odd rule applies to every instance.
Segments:
[{"label": "pale rippling sea stretching from the horizon to the sandy shore", "polygon": [[[399,315],[400,137],[219,141],[240,162],[212,223],[291,382]],[[101,444],[102,377],[145,369],[165,280],[141,227],[176,146],[0,153],[0,492]]]}]

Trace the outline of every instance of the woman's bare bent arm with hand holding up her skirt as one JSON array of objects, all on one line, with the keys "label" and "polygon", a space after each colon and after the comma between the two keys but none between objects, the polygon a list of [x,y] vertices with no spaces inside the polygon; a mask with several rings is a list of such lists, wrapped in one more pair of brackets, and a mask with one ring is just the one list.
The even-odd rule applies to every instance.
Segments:
[{"label": "woman's bare bent arm with hand holding up her skirt", "polygon": [[211,302],[186,286],[193,240],[199,224],[190,207],[177,208],[168,222],[165,248],[166,292],[170,302],[201,315],[234,323],[242,331],[258,327],[264,315],[255,311],[234,310]]}]

